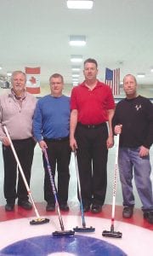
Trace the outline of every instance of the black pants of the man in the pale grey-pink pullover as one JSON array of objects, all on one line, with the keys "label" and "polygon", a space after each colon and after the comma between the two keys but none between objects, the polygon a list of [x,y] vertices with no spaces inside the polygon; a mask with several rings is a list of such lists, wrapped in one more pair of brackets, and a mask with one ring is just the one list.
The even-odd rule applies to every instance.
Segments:
[{"label": "black pants of the man in the pale grey-pink pullover", "polygon": [[[31,165],[33,160],[35,142],[33,138],[14,140],[14,149],[20,160],[20,165],[26,177],[28,185],[31,179]],[[10,147],[3,145],[4,164],[4,196],[8,203],[13,203],[18,197],[20,201],[27,200],[27,189],[19,172],[19,179],[16,191],[17,163]]]}]

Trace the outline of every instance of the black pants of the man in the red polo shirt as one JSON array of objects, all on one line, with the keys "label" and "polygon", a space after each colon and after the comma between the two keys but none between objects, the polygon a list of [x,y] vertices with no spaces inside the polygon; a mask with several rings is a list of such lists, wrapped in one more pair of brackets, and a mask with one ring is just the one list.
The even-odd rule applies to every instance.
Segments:
[{"label": "black pants of the man in the red polo shirt", "polygon": [[107,125],[77,125],[77,161],[83,204],[103,205],[107,186]]}]

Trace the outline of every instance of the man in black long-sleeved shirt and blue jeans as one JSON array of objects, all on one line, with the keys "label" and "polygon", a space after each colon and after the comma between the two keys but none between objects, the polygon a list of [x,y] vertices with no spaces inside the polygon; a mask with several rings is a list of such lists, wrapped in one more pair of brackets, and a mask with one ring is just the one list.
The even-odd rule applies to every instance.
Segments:
[{"label": "man in black long-sleeved shirt and blue jeans", "polygon": [[133,216],[135,185],[142,202],[144,218],[153,224],[153,195],[150,180],[150,146],[153,143],[153,105],[137,94],[137,81],[131,74],[123,79],[126,98],[116,105],[112,120],[116,134],[121,133],[119,171],[122,183],[123,218]]}]

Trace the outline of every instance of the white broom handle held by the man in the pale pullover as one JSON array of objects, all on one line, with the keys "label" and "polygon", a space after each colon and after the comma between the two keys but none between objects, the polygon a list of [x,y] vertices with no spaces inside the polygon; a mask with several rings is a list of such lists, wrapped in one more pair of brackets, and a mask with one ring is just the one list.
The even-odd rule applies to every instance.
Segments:
[{"label": "white broom handle held by the man in the pale pullover", "polygon": [[9,143],[10,143],[10,147],[11,147],[11,149],[12,149],[12,151],[13,151],[14,158],[15,158],[15,160],[16,160],[16,162],[17,162],[17,165],[18,165],[18,167],[19,167],[19,170],[20,170],[20,175],[22,176],[23,181],[24,181],[24,183],[25,183],[25,185],[26,185],[26,190],[27,190],[28,195],[29,195],[30,198],[31,198],[31,202],[32,202],[32,205],[33,205],[34,210],[35,210],[35,212],[36,212],[37,218],[40,218],[40,215],[39,215],[38,212],[37,212],[37,207],[35,206],[35,202],[33,201],[33,198],[32,198],[32,195],[31,195],[31,190],[30,190],[29,185],[28,185],[28,183],[27,183],[27,181],[26,181],[25,174],[24,174],[24,172],[23,172],[23,170],[22,170],[22,167],[20,166],[20,160],[18,159],[18,156],[17,156],[17,154],[16,154],[16,152],[15,152],[14,144],[12,143],[12,140],[11,140],[9,134],[8,134],[8,129],[6,128],[5,125],[3,125],[3,130],[5,131],[6,136],[8,137],[8,141],[9,141]]}]

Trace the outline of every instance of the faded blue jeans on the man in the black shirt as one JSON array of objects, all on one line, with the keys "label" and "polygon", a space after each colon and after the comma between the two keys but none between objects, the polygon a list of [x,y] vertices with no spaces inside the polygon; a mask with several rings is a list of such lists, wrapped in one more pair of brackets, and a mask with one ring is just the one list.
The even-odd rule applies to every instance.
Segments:
[{"label": "faded blue jeans on the man in the black shirt", "polygon": [[153,210],[152,184],[150,181],[150,156],[139,157],[139,148],[119,148],[118,165],[122,183],[123,206],[134,206],[133,177],[142,210]]}]

